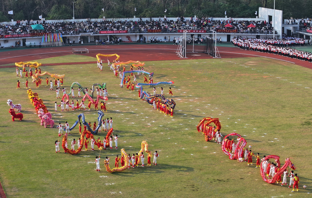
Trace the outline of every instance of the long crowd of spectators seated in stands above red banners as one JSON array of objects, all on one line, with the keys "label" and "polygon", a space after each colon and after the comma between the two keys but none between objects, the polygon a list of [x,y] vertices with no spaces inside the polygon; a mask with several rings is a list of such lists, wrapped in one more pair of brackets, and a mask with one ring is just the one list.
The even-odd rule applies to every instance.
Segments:
[{"label": "long crowd of spectators seated in stands above red banners", "polygon": [[[32,24],[42,24],[44,30],[33,30]],[[230,24],[232,27],[225,27]],[[253,24],[255,27],[247,27]],[[272,31],[271,23],[266,21],[244,21],[244,20],[212,20],[210,18],[193,18],[185,20],[183,17],[178,17],[176,20],[167,20],[167,18],[159,18],[159,20],[140,20],[138,21],[91,21],[83,22],[46,22],[23,20],[17,21],[16,25],[0,24],[0,34],[29,34],[35,32],[52,32],[79,34],[80,32],[89,32],[98,34],[99,31],[121,31],[127,30],[148,32],[148,30],[166,30],[168,33],[176,30],[238,30],[238,31]]]}]

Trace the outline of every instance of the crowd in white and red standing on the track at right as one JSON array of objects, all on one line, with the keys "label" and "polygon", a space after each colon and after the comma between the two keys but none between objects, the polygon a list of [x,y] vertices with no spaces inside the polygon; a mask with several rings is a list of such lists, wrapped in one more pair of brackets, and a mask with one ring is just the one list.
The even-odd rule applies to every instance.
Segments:
[{"label": "crowd in white and red standing on the track at right", "polygon": [[260,51],[263,53],[278,54],[299,60],[312,62],[312,53],[307,51],[297,50],[292,46],[304,46],[305,40],[296,37],[283,37],[282,39],[276,38],[245,38],[234,37],[232,39],[234,46],[242,50]]}]

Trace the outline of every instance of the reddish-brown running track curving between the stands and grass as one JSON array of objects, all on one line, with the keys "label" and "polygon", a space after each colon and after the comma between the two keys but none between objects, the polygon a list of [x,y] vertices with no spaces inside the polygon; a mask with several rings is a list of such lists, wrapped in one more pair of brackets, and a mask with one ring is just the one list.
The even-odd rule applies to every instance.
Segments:
[{"label": "reddish-brown running track curving between the stands and grass", "polygon": [[[27,62],[30,60],[51,58],[56,56],[71,55],[72,48],[85,47],[89,49],[89,54],[85,56],[95,57],[96,54],[118,54],[120,61],[139,60],[157,61],[157,60],[181,60],[176,55],[177,46],[170,44],[121,44],[121,45],[85,45],[85,46],[63,46],[63,47],[45,47],[21,49],[15,51],[4,51],[0,53],[0,65],[11,64],[15,62]],[[203,47],[203,46],[202,46]],[[284,56],[261,53],[256,51],[241,50],[236,47],[218,47],[222,58],[240,58],[240,57],[265,57],[275,60],[290,62],[296,65],[312,69],[312,63],[307,61],[291,59]],[[187,53],[187,59],[210,59],[210,55],[204,53]],[[80,64],[89,64],[92,62],[82,62]],[[71,64],[71,63],[66,63]],[[64,65],[62,64],[46,64],[46,65]],[[15,67],[15,65],[5,66]],[[2,66],[3,68],[3,66]]]}]

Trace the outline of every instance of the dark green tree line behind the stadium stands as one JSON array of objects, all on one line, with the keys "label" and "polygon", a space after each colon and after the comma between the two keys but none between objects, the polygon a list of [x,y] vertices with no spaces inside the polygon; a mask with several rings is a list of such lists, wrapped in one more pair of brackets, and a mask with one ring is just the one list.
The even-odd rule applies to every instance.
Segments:
[{"label": "dark green tree line behind the stadium stands", "polygon": [[[73,5],[75,18],[80,19],[224,17],[225,11],[227,17],[256,18],[258,7],[273,8],[274,0],[0,0],[0,21],[39,20],[40,15],[46,20],[72,19]],[[275,0],[283,18],[310,18],[310,5],[312,0]],[[13,15],[8,14],[11,10]]]}]

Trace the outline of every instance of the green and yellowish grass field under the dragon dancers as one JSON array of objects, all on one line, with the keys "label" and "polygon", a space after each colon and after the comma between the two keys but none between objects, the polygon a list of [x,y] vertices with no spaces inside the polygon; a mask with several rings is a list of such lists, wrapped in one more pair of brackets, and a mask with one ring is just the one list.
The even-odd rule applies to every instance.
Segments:
[{"label": "green and yellowish grass field under the dragon dancers", "polygon": [[[41,60],[45,63],[90,61],[79,55]],[[94,59],[95,60],[95,59]],[[21,60],[19,60],[21,61]],[[176,102],[174,117],[151,109],[135,92],[119,87],[109,67],[101,72],[96,64],[43,67],[42,71],[66,74],[64,85],[69,92],[72,82],[90,88],[93,83],[107,83],[108,112],[114,120],[119,148],[127,153],[139,152],[143,140],[149,150],[159,152],[158,165],[107,173],[101,159],[101,172],[95,171],[99,151],[82,151],[77,155],[55,153],[58,129],[40,126],[22,79],[17,90],[15,68],[1,69],[0,85],[0,180],[8,197],[308,197],[311,193],[310,130],[312,113],[310,95],[312,70],[272,59],[236,58],[209,60],[174,60],[145,62],[146,71],[154,72],[154,82],[173,80]],[[106,64],[103,64],[106,65]],[[129,69],[129,68],[128,68]],[[44,79],[45,77],[43,77]],[[30,80],[30,79],[28,79]],[[143,82],[143,77],[137,78]],[[73,124],[78,111],[54,112],[55,91],[47,86],[30,88],[43,99],[55,123]],[[43,85],[45,81],[43,80]],[[144,88],[149,92],[152,87]],[[160,93],[160,86],[156,87]],[[61,94],[62,95],[62,94]],[[24,120],[12,122],[7,99],[22,104]],[[60,107],[59,109],[60,110]],[[86,120],[96,121],[95,110],[82,111]],[[229,160],[221,146],[206,142],[196,125],[204,117],[219,118],[223,136],[236,131],[252,145],[254,153],[280,156],[281,164],[289,157],[300,178],[300,191],[262,181],[255,165]],[[78,139],[78,128],[69,137]],[[95,138],[103,140],[106,133]],[[90,147],[90,145],[89,145]],[[61,148],[62,151],[62,148]],[[112,159],[120,150],[101,152]],[[110,167],[114,166],[111,160]],[[145,163],[147,159],[145,159]],[[255,164],[255,163],[254,163]],[[102,177],[100,177],[102,176]],[[107,177],[105,177],[107,176]],[[289,181],[289,180],[287,180]],[[303,190],[302,186],[308,187]]]}]

